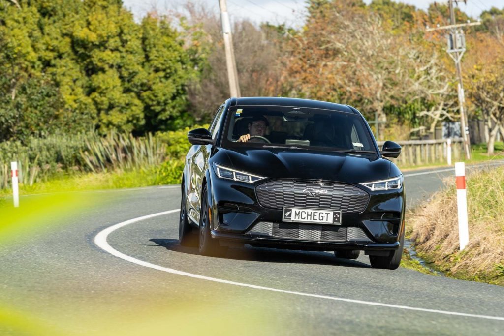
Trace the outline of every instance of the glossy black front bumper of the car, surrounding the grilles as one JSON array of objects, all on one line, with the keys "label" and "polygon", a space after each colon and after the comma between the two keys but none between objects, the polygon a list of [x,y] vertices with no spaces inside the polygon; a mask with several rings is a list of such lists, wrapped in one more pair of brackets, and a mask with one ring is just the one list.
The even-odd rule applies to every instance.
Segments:
[{"label": "glossy black front bumper of the car, surrounding the grilles", "polygon": [[211,232],[214,238],[276,248],[325,251],[395,250],[400,245],[399,236],[404,230],[404,186],[396,190],[365,190],[369,200],[364,210],[343,212],[341,225],[284,223],[281,209],[260,204],[256,187],[212,176]]}]

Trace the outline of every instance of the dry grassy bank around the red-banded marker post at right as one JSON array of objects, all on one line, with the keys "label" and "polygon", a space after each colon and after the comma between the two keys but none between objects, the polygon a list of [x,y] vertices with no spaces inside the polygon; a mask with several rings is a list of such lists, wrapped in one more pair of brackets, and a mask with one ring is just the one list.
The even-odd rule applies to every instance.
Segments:
[{"label": "dry grassy bank around the red-banded marker post at right", "polygon": [[470,240],[463,251],[452,182],[407,222],[417,253],[447,276],[504,286],[504,168],[466,179]]}]

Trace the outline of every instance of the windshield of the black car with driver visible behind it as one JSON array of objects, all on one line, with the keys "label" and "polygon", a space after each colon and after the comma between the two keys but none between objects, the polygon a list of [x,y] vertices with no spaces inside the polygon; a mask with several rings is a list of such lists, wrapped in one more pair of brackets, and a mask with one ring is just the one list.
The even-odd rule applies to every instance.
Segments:
[{"label": "windshield of the black car with driver visible behind it", "polygon": [[235,106],[225,147],[289,147],[376,154],[362,118],[353,113],[291,106]]}]

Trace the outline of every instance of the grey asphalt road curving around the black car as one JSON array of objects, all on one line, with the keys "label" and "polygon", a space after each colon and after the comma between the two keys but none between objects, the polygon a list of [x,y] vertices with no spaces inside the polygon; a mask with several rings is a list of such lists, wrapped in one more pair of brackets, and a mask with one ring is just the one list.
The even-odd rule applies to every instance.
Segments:
[{"label": "grey asphalt road curving around the black car", "polygon": [[[408,205],[447,176],[454,171],[406,172]],[[177,243],[178,211],[110,231],[106,244],[122,258],[97,246],[115,224],[178,209],[179,193],[94,193],[96,208],[3,246],[0,302],[62,334],[504,333],[503,287],[376,270],[364,255],[246,246],[200,256]],[[18,333],[0,321],[0,334]]]}]

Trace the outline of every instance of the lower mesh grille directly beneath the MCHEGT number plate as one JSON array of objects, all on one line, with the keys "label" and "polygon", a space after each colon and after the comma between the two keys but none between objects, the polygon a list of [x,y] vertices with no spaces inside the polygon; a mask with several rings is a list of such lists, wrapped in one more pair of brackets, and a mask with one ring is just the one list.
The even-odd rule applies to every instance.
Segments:
[{"label": "lower mesh grille directly beneath the MCHEGT number plate", "polygon": [[345,241],[347,228],[333,225],[273,223],[273,237]]}]

